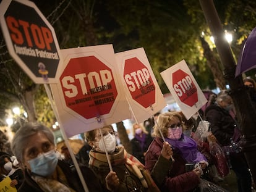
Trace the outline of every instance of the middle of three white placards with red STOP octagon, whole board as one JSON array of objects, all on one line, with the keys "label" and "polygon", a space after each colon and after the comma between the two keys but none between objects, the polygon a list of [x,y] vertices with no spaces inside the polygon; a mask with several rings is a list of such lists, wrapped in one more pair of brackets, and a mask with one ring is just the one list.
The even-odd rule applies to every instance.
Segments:
[{"label": "middle of three white placards with red STOP octagon, whole board", "polygon": [[166,102],[144,49],[119,52],[116,59],[134,119],[143,122],[161,111]]}]

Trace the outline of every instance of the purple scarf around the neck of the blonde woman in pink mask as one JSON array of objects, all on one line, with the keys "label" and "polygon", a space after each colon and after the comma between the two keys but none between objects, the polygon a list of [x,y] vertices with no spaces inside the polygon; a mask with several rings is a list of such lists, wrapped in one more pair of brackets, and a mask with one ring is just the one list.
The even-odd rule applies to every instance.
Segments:
[{"label": "purple scarf around the neck of the blonde woman in pink mask", "polygon": [[182,153],[182,157],[188,163],[197,163],[200,161],[207,161],[205,156],[197,149],[197,143],[192,138],[189,138],[185,135],[181,136],[180,140],[171,140],[169,138],[165,138],[169,144],[171,144],[174,150],[178,149]]}]

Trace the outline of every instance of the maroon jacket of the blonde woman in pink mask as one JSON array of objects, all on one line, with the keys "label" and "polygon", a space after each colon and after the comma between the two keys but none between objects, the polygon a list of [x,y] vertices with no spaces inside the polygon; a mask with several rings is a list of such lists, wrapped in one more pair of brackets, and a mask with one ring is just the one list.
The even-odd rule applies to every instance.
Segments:
[{"label": "maroon jacket of the blonde woman in pink mask", "polygon": [[[162,148],[163,140],[161,138],[155,138],[150,144],[145,156],[146,169],[154,172],[154,166],[158,161]],[[163,177],[163,182],[158,183],[161,191],[193,191],[200,182],[198,176],[193,171],[186,172],[186,161],[182,158],[179,151],[173,150],[173,158],[175,160],[173,167],[169,164],[161,164],[162,171],[158,173],[158,178]],[[154,174],[151,173],[151,175]],[[160,182],[160,179],[158,181]]]}]

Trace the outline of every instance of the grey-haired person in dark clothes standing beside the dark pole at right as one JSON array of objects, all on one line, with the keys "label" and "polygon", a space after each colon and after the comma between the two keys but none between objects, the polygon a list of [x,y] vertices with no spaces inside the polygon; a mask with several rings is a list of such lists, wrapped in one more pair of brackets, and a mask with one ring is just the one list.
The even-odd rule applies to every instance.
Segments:
[{"label": "grey-haired person in dark clothes standing beside the dark pole at right", "polygon": [[[236,119],[229,114],[232,106],[229,91],[221,90],[216,98],[216,104],[208,106],[205,110],[205,118],[210,122],[211,132],[221,147],[230,148],[233,142],[238,143],[242,138]],[[236,173],[238,191],[251,191],[252,180],[244,152],[230,153],[228,158],[233,171]]]}]

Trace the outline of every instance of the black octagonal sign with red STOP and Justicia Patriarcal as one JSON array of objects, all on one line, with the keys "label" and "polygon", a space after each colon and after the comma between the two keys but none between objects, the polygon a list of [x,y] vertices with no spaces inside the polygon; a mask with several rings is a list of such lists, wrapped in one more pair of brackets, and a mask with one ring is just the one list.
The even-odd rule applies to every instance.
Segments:
[{"label": "black octagonal sign with red STOP and Justicia Patriarcal", "polygon": [[2,1],[1,28],[9,54],[35,83],[56,83],[60,63],[55,31],[31,1]]}]

